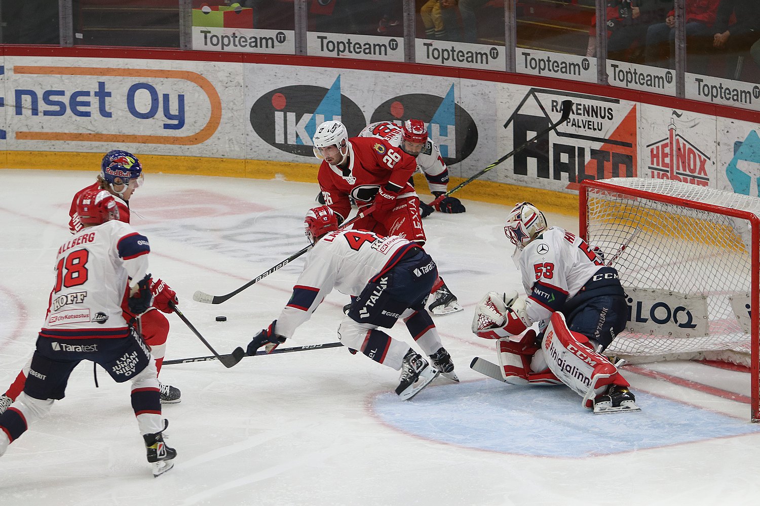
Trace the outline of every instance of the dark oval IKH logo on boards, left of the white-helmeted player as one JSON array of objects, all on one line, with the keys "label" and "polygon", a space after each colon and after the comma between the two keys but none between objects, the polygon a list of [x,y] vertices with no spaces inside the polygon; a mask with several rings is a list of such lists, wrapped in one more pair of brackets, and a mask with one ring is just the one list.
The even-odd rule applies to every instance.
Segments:
[{"label": "dark oval IKH logo on boards, left of the white-helmeted player", "polygon": [[340,94],[340,75],[332,86],[285,86],[259,97],[251,108],[253,130],[284,152],[314,158],[312,137],[324,121],[341,121],[349,136],[365,127],[362,110]]}]

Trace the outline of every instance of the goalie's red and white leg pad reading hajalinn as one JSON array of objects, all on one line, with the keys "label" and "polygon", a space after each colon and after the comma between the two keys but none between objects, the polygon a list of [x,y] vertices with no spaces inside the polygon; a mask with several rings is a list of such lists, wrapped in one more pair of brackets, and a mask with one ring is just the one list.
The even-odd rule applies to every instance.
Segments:
[{"label": "goalie's red and white leg pad reading hajalinn", "polygon": [[562,313],[553,313],[541,341],[549,369],[583,398],[584,407],[594,407],[594,398],[609,385],[629,386],[607,357],[588,347],[585,335],[572,332]]}]

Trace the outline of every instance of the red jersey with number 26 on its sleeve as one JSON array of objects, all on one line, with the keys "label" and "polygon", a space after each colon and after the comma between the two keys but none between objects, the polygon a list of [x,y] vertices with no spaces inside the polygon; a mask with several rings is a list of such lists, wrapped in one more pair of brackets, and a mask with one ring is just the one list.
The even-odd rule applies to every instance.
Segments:
[{"label": "red jersey with number 26 on its sleeve", "polygon": [[409,179],[417,162],[402,149],[374,137],[352,137],[348,140],[348,156],[345,171],[323,161],[317,175],[325,204],[341,219],[351,211],[349,196],[361,209],[372,203],[378,189],[386,184],[399,197],[416,196]]}]

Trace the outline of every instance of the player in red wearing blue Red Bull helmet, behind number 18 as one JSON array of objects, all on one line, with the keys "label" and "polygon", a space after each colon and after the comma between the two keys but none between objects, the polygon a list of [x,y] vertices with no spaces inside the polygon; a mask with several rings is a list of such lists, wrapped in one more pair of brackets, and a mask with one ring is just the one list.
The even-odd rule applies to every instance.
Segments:
[{"label": "player in red wearing blue Red Bull helmet, behind number 18", "polygon": [[[82,229],[81,219],[77,213],[77,203],[84,192],[107,190],[114,197],[116,206],[119,207],[119,221],[129,223],[129,198],[135,190],[142,186],[143,181],[142,165],[135,155],[121,149],[113,149],[107,152],[100,163],[100,174],[97,176],[97,181],[79,190],[74,195],[74,199],[71,200],[71,208],[68,212],[70,217],[68,228],[71,234],[76,234]],[[169,320],[155,309],[150,307],[141,315],[128,314],[125,315],[125,318],[127,321],[132,321],[138,325],[145,342],[150,346],[150,353],[156,361],[158,372],[160,372],[163,356],[166,352],[166,338],[169,335]],[[14,382],[5,391],[5,394],[0,396],[0,413],[5,411],[17,395],[24,390],[29,364],[30,362],[27,362],[27,365],[21,369]],[[176,404],[180,401],[182,394],[179,388],[163,383],[160,383],[160,387],[162,403]]]}]

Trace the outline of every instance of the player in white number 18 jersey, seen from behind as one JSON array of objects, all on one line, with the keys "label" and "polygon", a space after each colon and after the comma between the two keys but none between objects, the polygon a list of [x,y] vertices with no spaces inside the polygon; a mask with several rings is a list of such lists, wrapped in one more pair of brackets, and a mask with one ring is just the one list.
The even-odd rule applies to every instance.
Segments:
[{"label": "player in white number 18 jersey, seen from behind", "polygon": [[71,371],[82,360],[106,369],[116,382],[131,382],[131,406],[143,435],[147,460],[159,476],[173,467],[176,451],[163,442],[157,370],[141,335],[124,318],[151,304],[169,310],[174,292],[148,274],[147,237],[119,221],[106,190],[82,193],[82,229],[58,250],[55,284],[36,340],[24,391],[0,414],[0,455],[28,426],[65,395]]}]

